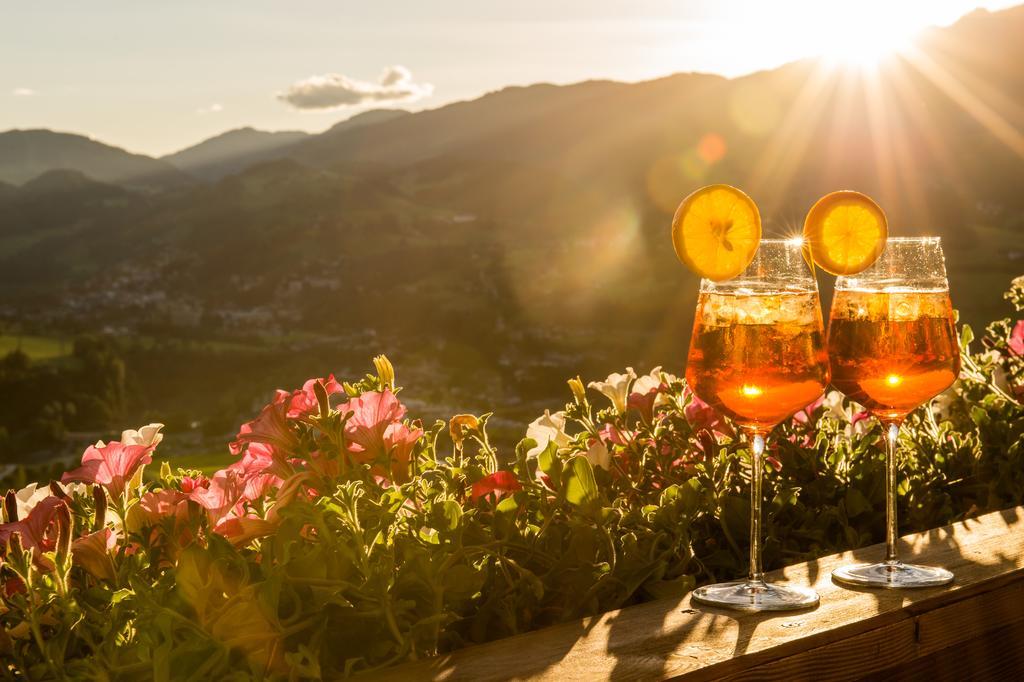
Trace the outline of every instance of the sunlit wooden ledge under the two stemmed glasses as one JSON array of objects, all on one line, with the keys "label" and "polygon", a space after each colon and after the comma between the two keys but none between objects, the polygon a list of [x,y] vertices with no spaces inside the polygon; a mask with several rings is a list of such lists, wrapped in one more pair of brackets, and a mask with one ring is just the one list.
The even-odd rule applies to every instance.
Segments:
[{"label": "sunlit wooden ledge under the two stemmed glasses", "polygon": [[1024,676],[1024,507],[902,539],[900,556],[953,571],[951,586],[851,590],[831,571],[884,545],[769,574],[813,585],[817,608],[750,613],[689,596],[472,646],[382,671],[385,680],[886,679]]}]

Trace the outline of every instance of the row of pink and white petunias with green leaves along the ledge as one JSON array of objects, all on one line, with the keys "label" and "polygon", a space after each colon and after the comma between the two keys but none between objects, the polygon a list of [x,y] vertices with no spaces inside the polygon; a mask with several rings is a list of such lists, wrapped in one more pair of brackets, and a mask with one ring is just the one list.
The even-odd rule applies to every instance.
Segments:
[{"label": "row of pink and white petunias with green leaves along the ledge", "polygon": [[[1024,280],[1008,298],[1024,308]],[[1022,502],[1024,322],[972,342],[901,436],[905,528]],[[672,374],[571,379],[504,453],[489,415],[411,419],[375,366],[279,391],[213,475],[146,481],[151,424],[8,492],[4,675],[336,677],[744,572],[744,445]],[[775,430],[766,566],[883,538],[882,437],[835,392]]]}]

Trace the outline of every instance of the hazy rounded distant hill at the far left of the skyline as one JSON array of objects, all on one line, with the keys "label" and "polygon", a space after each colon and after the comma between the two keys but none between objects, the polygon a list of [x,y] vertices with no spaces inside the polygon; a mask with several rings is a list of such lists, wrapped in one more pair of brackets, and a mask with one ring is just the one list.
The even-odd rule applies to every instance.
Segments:
[{"label": "hazy rounded distant hill at the far left of the skyline", "polygon": [[23,184],[54,169],[75,170],[103,182],[145,189],[186,186],[191,180],[170,164],[83,135],[51,130],[0,133],[0,181]]}]

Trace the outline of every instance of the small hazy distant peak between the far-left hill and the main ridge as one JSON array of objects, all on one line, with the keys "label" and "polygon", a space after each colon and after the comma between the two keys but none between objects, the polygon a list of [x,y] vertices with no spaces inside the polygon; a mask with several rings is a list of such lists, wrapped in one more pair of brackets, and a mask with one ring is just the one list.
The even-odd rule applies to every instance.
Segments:
[{"label": "small hazy distant peak between the far-left hill and the main ridge", "polygon": [[228,130],[187,148],[162,157],[197,178],[216,180],[262,161],[280,159],[288,148],[308,137],[297,130],[269,132],[254,128]]}]

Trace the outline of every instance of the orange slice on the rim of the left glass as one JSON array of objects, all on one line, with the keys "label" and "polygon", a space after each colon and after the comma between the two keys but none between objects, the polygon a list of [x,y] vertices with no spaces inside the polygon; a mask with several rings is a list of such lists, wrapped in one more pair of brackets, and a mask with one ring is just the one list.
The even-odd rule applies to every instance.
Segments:
[{"label": "orange slice on the rim of the left glass", "polygon": [[706,280],[723,282],[742,272],[760,243],[757,205],[727,184],[697,189],[683,200],[672,219],[676,256]]}]

